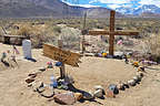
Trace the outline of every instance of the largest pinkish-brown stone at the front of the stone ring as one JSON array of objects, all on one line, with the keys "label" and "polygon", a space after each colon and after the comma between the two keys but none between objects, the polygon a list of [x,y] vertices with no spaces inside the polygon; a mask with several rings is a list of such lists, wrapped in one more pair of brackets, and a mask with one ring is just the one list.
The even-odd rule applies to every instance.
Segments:
[{"label": "largest pinkish-brown stone at the front of the stone ring", "polygon": [[76,98],[73,93],[62,93],[62,94],[57,94],[53,96],[54,102],[59,103],[61,105],[73,105],[76,103]]}]

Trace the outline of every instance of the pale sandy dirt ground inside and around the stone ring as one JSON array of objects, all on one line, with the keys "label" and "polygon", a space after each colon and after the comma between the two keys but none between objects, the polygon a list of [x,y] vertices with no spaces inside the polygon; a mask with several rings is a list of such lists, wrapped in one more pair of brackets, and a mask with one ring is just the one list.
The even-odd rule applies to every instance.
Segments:
[{"label": "pale sandy dirt ground inside and around the stone ring", "polygon": [[[53,100],[49,100],[32,88],[27,86],[24,80],[29,73],[38,71],[46,66],[46,63],[52,61],[42,56],[42,50],[32,50],[37,62],[23,60],[22,49],[18,46],[20,55],[17,55],[19,66],[14,68],[4,67],[0,63],[0,106],[59,106]],[[0,53],[12,50],[11,45],[0,43]],[[100,57],[82,57],[80,67],[66,66],[67,73],[72,75],[74,86],[86,92],[92,91],[94,85],[102,85],[107,88],[108,84],[126,82],[136,74],[136,68],[124,64],[123,61],[108,60]],[[49,84],[51,75],[59,76],[59,68],[48,70],[38,75],[37,81]],[[102,106],[159,106],[160,104],[160,66],[148,68],[142,82],[120,92],[116,98],[97,99]],[[74,106],[100,106],[96,102],[79,103]]]}]

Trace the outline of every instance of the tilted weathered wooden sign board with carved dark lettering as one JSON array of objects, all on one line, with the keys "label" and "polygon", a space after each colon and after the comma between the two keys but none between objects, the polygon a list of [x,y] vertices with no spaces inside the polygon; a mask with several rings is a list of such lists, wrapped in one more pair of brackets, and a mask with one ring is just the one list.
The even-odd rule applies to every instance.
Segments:
[{"label": "tilted weathered wooden sign board with carved dark lettering", "polygon": [[66,63],[71,66],[79,66],[80,54],[64,51],[51,44],[43,44],[43,55],[54,61]]}]

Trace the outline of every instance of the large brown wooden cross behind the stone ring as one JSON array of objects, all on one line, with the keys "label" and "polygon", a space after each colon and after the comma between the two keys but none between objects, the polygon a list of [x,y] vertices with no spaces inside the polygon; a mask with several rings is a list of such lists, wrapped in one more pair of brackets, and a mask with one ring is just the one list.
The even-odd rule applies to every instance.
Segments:
[{"label": "large brown wooden cross behind the stone ring", "polygon": [[114,35],[138,35],[139,32],[123,32],[114,31],[114,14],[116,11],[110,12],[110,31],[89,31],[89,35],[106,35],[109,34],[109,55],[113,55]]}]

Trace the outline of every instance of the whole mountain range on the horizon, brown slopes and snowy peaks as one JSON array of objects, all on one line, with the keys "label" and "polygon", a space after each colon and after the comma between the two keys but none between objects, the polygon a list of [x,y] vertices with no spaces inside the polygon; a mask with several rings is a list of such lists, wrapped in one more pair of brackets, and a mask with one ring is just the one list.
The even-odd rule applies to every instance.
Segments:
[{"label": "whole mountain range on the horizon, brown slopes and snowy peaks", "polygon": [[[108,18],[108,8],[84,8],[69,6],[60,0],[0,0],[0,18],[71,18],[83,17],[87,12],[89,18]],[[150,4],[138,9],[117,8],[117,17],[133,15],[159,15],[160,8]]]}]

